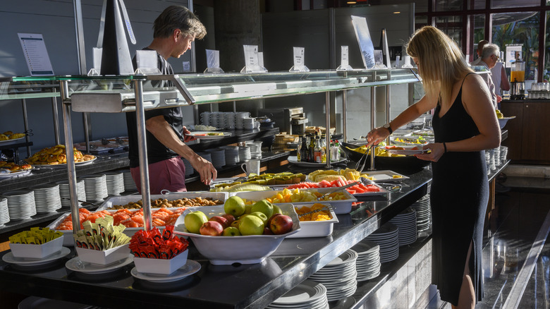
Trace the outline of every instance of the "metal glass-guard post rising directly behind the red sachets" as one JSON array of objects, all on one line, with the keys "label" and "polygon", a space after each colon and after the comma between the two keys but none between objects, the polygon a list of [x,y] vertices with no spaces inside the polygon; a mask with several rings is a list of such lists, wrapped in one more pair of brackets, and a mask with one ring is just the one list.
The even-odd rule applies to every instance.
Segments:
[{"label": "metal glass-guard post rising directly behind the red sachets", "polygon": [[145,109],[143,109],[143,81],[134,80],[135,117],[138,123],[138,150],[140,154],[141,195],[143,202],[143,224],[145,230],[153,228],[151,218],[151,193],[149,192],[149,164],[147,162],[147,140],[145,139]]}]

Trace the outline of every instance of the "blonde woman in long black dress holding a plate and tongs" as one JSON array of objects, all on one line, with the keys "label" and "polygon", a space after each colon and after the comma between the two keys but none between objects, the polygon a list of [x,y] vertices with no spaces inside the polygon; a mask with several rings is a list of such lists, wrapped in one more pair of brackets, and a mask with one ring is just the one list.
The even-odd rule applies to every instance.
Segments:
[{"label": "blonde woman in long black dress holding a plate and tongs", "polygon": [[483,296],[482,234],[489,199],[485,149],[501,142],[487,84],[450,37],[431,26],[417,30],[407,53],[426,95],[396,119],[367,135],[378,144],[406,123],[435,109],[435,141],[419,159],[432,161],[432,281],[453,308],[474,308]]}]

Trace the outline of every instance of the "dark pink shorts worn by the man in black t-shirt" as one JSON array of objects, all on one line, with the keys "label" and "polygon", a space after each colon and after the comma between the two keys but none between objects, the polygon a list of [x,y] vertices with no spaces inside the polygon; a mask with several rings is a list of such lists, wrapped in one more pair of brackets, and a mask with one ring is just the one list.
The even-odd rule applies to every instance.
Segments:
[{"label": "dark pink shorts worn by the man in black t-shirt", "polygon": [[[141,193],[140,166],[130,169],[135,186]],[[185,164],[180,157],[149,164],[149,192],[161,194],[161,190],[170,192],[187,191],[185,188]]]}]

